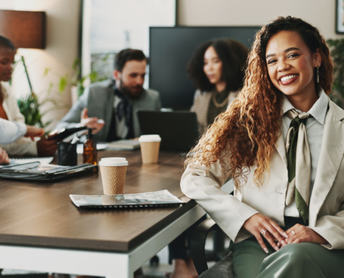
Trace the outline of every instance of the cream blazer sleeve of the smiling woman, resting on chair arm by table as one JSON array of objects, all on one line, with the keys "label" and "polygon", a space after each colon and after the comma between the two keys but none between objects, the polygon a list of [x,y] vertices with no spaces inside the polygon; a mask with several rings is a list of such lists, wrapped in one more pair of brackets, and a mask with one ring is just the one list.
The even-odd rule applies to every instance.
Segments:
[{"label": "cream blazer sleeve of the smiling woman, resting on chair arm by table", "polygon": [[237,242],[239,232],[247,232],[240,231],[244,222],[258,211],[220,189],[232,174],[226,169],[229,158],[225,155],[222,152],[220,156],[224,158],[223,163],[218,160],[210,169],[200,164],[188,165],[181,177],[181,190],[190,199],[195,199],[227,236]]}]

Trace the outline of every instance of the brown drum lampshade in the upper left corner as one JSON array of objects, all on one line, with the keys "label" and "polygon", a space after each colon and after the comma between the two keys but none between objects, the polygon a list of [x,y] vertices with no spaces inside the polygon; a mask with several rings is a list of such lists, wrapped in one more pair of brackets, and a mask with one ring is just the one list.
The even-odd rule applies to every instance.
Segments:
[{"label": "brown drum lampshade in the upper left corner", "polygon": [[44,12],[0,10],[0,34],[17,48],[45,48]]}]

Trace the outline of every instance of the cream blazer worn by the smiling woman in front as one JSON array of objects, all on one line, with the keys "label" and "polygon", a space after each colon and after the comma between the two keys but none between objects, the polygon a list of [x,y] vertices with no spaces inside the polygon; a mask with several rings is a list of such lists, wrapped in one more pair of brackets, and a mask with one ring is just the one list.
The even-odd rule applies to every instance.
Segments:
[{"label": "cream blazer worn by the smiling woman in front", "polygon": [[[328,249],[344,249],[344,111],[329,100],[322,136],[322,147],[309,203],[309,227],[323,236]],[[224,154],[222,153],[222,157]],[[229,163],[229,158],[224,161]],[[243,229],[244,222],[255,213],[268,216],[284,227],[284,207],[288,186],[288,170],[284,138],[279,136],[265,173],[262,188],[253,182],[256,166],[251,168],[247,183],[235,188],[234,196],[220,188],[232,172],[224,172],[224,165],[188,165],[181,177],[181,190],[204,208],[220,228],[235,243],[252,236]]]}]

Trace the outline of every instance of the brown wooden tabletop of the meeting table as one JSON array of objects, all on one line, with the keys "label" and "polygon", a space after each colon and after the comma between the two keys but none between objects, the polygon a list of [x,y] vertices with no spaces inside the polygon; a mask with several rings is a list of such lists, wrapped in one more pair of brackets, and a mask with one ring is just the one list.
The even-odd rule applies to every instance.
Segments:
[{"label": "brown wooden tabletop of the meeting table", "polygon": [[129,162],[124,193],[167,189],[188,203],[145,210],[82,209],[74,206],[69,194],[102,195],[100,173],[57,183],[0,179],[0,243],[128,251],[195,206],[180,190],[179,154],[161,152],[156,165],[142,165],[140,151],[98,155],[98,160],[119,156]]}]

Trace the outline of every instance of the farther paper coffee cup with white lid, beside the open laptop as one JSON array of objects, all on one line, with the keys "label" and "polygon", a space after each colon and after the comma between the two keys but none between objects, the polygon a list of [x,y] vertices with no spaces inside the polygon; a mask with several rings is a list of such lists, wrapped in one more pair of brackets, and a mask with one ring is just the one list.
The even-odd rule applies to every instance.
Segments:
[{"label": "farther paper coffee cup with white lid, beside the open laptop", "polygon": [[158,163],[161,137],[152,135],[142,135],[138,141],[141,147],[142,163]]}]

